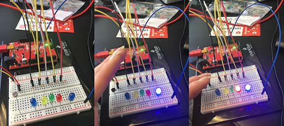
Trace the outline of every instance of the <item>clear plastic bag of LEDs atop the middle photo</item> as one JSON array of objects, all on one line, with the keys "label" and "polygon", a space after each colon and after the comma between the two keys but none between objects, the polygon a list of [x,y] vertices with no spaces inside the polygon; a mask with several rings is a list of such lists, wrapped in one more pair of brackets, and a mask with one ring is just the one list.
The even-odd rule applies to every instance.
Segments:
[{"label": "clear plastic bag of LEDs atop the middle photo", "polygon": [[[154,2],[133,1],[137,15],[147,16],[154,8],[155,5],[161,5]],[[126,0],[121,0],[118,8],[121,13],[125,13]],[[130,12],[134,14],[132,3],[130,3]]]}]

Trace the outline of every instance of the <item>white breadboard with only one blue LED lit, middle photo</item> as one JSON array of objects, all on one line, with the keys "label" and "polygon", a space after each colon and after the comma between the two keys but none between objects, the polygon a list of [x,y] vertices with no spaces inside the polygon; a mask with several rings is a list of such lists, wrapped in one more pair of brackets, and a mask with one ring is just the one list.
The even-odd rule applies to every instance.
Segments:
[{"label": "white breadboard with only one blue LED lit, middle photo", "polygon": [[[148,75],[148,82],[146,81],[145,75]],[[151,71],[141,72],[143,83],[140,82],[139,74],[135,73],[136,84],[133,83],[133,74],[129,74],[128,79],[130,85],[126,81],[126,76],[116,76],[119,82],[119,89],[116,84],[111,81],[109,85],[109,118],[123,117],[125,115],[140,113],[144,111],[167,108],[178,104],[178,99],[171,98],[173,94],[173,88],[170,84],[169,78],[164,68],[153,70],[154,81],[151,80]],[[115,94],[111,91],[115,88]],[[156,94],[156,88],[161,89],[161,94]],[[143,89],[150,90],[151,96],[141,96],[134,98],[134,91]],[[130,100],[126,100],[125,93],[130,94]]]}]

